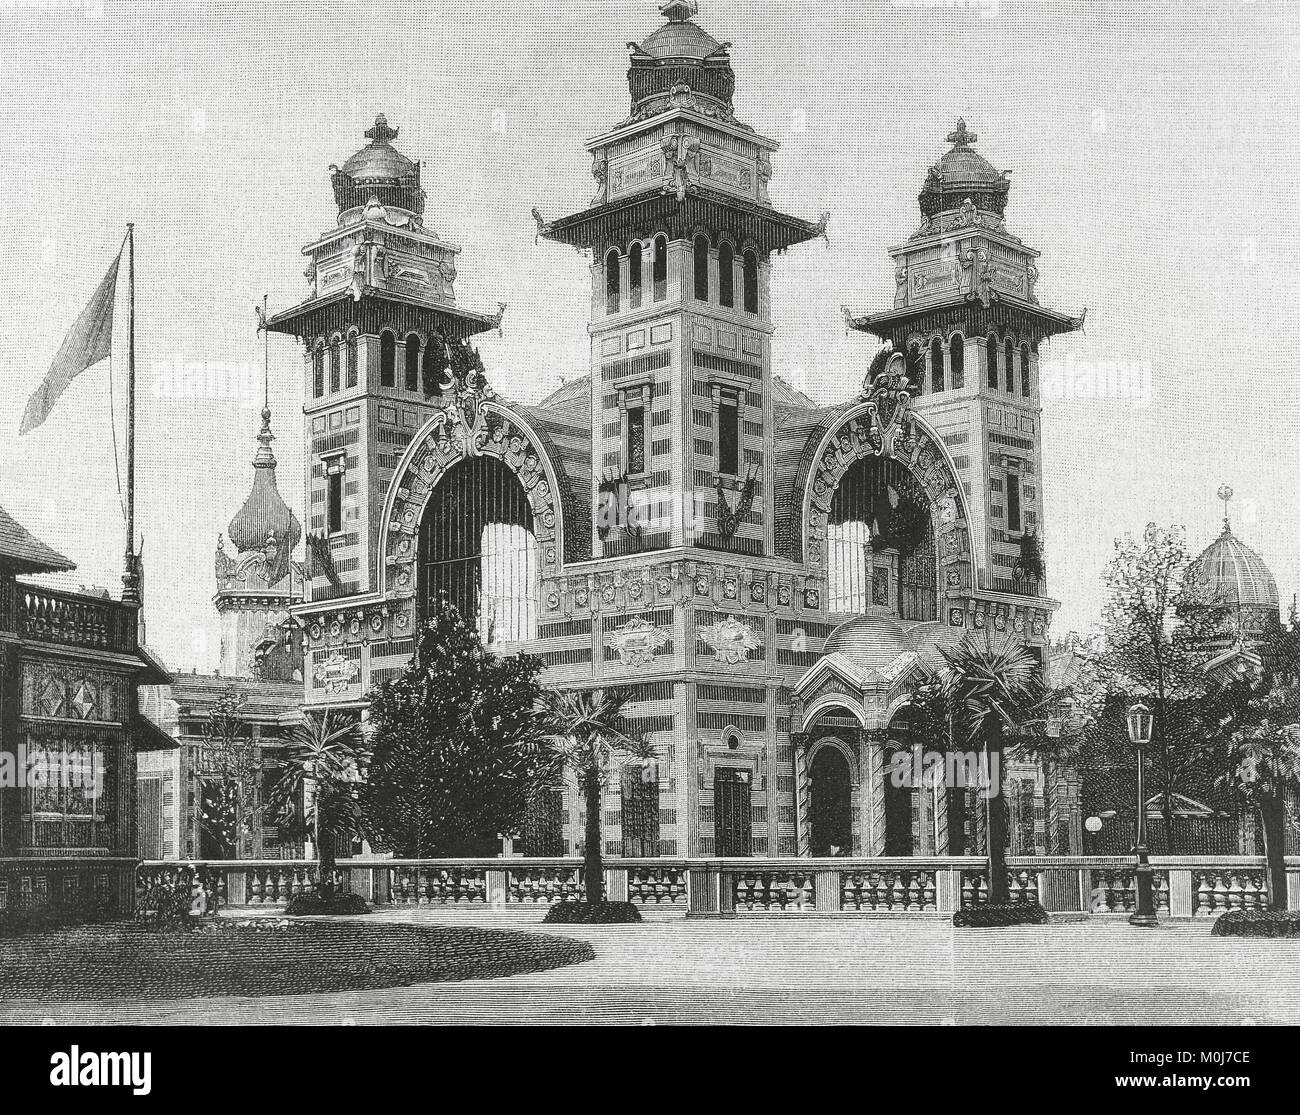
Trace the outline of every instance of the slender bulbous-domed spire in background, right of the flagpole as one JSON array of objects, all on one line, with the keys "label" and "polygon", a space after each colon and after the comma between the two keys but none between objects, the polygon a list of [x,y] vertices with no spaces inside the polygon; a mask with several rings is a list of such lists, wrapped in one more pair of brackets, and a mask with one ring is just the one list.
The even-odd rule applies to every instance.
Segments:
[{"label": "slender bulbous-domed spire in background, right of the flagpole", "polygon": [[224,677],[292,681],[302,665],[298,651],[286,647],[283,625],[290,607],[303,600],[303,569],[294,560],[303,528],[280,494],[273,441],[268,407],[252,459],[252,491],[228,528],[234,556],[217,541],[213,603],[221,617]]}]

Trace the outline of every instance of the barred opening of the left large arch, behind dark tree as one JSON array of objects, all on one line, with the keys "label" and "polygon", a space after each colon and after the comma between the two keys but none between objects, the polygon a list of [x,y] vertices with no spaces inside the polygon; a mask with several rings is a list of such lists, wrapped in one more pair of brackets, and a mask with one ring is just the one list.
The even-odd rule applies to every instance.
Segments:
[{"label": "barred opening of the left large arch, behind dark tree", "polygon": [[459,461],[420,522],[421,622],[445,595],[486,643],[536,638],[537,559],[533,511],[515,473],[491,456]]}]

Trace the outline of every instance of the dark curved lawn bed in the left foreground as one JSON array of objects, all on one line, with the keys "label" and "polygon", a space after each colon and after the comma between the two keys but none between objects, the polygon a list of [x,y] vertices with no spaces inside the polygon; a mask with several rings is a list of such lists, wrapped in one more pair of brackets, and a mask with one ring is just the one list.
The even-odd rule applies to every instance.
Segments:
[{"label": "dark curved lawn bed in the left foreground", "polygon": [[82,925],[0,940],[0,999],[186,999],[403,988],[594,958],[540,933],[428,925],[218,921],[192,933]]}]

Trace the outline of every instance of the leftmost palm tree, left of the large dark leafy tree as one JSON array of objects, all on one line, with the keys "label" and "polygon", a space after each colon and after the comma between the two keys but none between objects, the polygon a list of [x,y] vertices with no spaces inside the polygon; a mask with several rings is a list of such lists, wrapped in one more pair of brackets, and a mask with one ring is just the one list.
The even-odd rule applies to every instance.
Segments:
[{"label": "leftmost palm tree, left of the large dark leafy tree", "polygon": [[[304,713],[281,759],[283,768],[268,806],[286,828],[312,834],[320,894],[329,901],[334,894],[335,841],[361,830],[356,788],[367,752],[360,728],[335,712],[321,717]],[[298,802],[304,803],[303,814]]]}]

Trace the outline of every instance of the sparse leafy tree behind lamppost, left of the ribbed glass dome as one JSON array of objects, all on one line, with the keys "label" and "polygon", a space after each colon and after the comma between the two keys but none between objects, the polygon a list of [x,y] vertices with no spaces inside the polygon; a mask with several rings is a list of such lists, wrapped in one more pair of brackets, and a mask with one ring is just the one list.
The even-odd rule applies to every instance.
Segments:
[{"label": "sparse leafy tree behind lamppost, left of the ribbed glass dome", "polygon": [[[1115,541],[1106,568],[1102,643],[1091,656],[1105,693],[1152,706],[1152,781],[1174,850],[1174,794],[1199,777],[1204,663],[1228,609],[1184,591],[1191,556],[1183,532],[1148,524]],[[1190,587],[1190,586],[1188,586]]]}]

